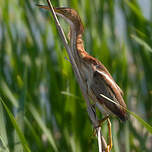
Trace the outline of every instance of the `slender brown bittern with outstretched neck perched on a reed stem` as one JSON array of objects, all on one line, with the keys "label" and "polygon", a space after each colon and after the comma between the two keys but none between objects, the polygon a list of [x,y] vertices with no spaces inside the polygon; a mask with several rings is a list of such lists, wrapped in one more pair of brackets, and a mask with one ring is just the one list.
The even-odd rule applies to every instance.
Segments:
[{"label": "slender brown bittern with outstretched neck perched on a reed stem", "polygon": [[[40,8],[50,9],[48,6],[38,6]],[[104,65],[85,51],[82,40],[84,27],[78,13],[71,8],[54,8],[54,11],[70,24],[70,48],[81,74],[83,85],[87,88],[89,98],[94,101],[95,105],[102,113],[106,114],[103,120],[108,120],[110,136],[106,151],[110,151],[112,148],[112,135],[111,123],[108,118],[109,114],[115,114],[122,121],[127,119],[126,104],[122,98],[123,92]],[[104,98],[101,94],[107,98]],[[114,102],[110,102],[108,99]],[[103,120],[101,120],[101,122]]]}]

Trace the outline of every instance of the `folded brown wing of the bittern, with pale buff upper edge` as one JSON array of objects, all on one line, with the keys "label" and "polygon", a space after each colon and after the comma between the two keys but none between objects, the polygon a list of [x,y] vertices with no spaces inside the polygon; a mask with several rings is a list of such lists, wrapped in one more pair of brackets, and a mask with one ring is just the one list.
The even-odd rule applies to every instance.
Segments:
[{"label": "folded brown wing of the bittern, with pale buff upper edge", "polygon": [[[111,77],[109,73],[106,74],[102,70],[96,70],[93,74],[93,81],[91,84],[91,90],[96,96],[97,100],[100,103],[103,103],[113,114],[118,116],[121,120],[127,119],[126,104],[121,96],[121,91]],[[100,94],[110,98],[114,102],[120,104],[121,106],[110,102],[108,99],[105,99]]]}]

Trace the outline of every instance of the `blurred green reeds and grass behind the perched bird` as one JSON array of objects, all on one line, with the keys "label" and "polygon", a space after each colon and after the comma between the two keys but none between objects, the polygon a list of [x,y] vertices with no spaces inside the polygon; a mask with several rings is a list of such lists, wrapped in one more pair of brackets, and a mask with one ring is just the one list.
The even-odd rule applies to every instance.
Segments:
[{"label": "blurred green reeds and grass behind the perched bird", "polygon": [[[152,125],[152,1],[52,3],[79,12],[86,50],[110,71],[124,91],[128,109]],[[0,152],[98,151],[54,20],[35,6],[46,1],[0,4]],[[67,24],[60,21],[67,34]],[[152,135],[135,118],[111,121],[112,152],[152,151]],[[106,123],[102,132],[107,139]]]}]

